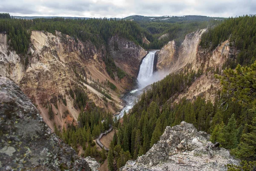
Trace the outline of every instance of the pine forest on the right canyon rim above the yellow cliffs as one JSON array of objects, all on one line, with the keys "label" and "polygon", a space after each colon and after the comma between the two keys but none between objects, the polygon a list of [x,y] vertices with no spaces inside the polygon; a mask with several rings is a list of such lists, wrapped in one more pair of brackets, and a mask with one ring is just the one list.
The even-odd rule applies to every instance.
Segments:
[{"label": "pine forest on the right canyon rim above the yellow cliffs", "polygon": [[[256,60],[256,16],[246,15],[225,20],[220,25],[209,29],[201,39],[203,48],[215,49],[219,43],[230,39],[230,46],[240,50],[236,63],[253,64]],[[234,63],[228,64],[234,68]]]}]

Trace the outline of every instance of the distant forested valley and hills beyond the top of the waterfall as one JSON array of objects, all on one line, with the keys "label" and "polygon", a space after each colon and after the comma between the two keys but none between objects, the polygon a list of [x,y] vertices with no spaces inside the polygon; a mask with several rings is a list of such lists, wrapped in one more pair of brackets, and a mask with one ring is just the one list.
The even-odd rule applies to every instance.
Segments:
[{"label": "distant forested valley and hills beyond the top of the waterfall", "polygon": [[134,15],[124,19],[137,22],[142,28],[152,34],[153,39],[148,38],[151,43],[144,45],[147,49],[160,49],[172,40],[175,40],[179,46],[185,39],[186,34],[195,32],[198,29],[218,25],[225,20],[225,18],[221,17],[197,15],[162,17]]}]

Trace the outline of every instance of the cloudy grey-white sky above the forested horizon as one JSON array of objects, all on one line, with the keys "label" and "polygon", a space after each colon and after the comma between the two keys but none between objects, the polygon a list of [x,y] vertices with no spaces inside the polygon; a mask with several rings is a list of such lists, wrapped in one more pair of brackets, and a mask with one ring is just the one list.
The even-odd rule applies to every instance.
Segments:
[{"label": "cloudy grey-white sky above the forested horizon", "polygon": [[256,14],[256,0],[0,0],[0,13],[14,16],[127,17],[130,15]]}]

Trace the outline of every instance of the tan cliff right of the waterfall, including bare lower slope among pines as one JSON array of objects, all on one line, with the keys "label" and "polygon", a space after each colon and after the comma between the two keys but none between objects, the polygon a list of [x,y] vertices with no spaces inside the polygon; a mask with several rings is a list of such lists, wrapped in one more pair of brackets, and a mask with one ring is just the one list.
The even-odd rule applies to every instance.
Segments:
[{"label": "tan cliff right of the waterfall, including bare lower slope among pines", "polygon": [[175,41],[170,41],[157,52],[157,71],[175,73],[186,70],[200,70],[203,74],[184,90],[178,97],[172,97],[179,101],[183,97],[194,99],[203,95],[207,100],[215,100],[215,91],[220,90],[219,81],[214,79],[215,71],[221,73],[223,65],[229,59],[236,58],[239,51],[235,46],[230,46],[229,40],[220,43],[215,49],[204,49],[200,46],[201,36],[207,29],[197,30],[186,35],[180,46]]}]

